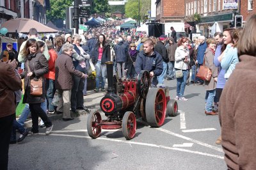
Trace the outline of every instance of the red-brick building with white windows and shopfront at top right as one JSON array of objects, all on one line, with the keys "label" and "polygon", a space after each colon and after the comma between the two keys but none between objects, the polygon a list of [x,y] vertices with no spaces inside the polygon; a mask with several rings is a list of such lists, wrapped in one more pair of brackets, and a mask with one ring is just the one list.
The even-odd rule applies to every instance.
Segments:
[{"label": "red-brick building with white windows and shopfront at top right", "polygon": [[[225,3],[224,3],[225,1]],[[236,15],[243,15],[243,22],[251,13],[255,13],[253,0],[185,0],[185,20],[196,25],[196,32],[208,37],[213,36],[217,31],[223,31],[234,25]],[[229,1],[229,3],[228,3]],[[237,3],[238,2],[238,3]],[[228,9],[232,8],[232,9]],[[200,15],[199,22],[195,16]],[[190,32],[190,30],[187,30]]]}]

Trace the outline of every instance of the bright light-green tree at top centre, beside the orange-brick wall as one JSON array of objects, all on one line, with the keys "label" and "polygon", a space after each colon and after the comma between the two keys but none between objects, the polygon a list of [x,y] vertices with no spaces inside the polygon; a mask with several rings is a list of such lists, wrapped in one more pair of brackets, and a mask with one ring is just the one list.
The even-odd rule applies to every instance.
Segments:
[{"label": "bright light-green tree at top centre, beside the orange-brick wall", "polygon": [[150,11],[150,0],[129,0],[125,4],[125,16],[139,20],[139,1],[140,1],[140,20],[148,15]]}]

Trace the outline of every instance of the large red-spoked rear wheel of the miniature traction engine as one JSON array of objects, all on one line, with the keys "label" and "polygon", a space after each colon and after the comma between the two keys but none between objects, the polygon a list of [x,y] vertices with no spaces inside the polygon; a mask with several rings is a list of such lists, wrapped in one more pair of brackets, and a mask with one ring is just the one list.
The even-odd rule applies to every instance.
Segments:
[{"label": "large red-spoked rear wheel of the miniature traction engine", "polygon": [[166,115],[166,98],[162,88],[150,88],[146,99],[146,117],[150,127],[161,127]]}]

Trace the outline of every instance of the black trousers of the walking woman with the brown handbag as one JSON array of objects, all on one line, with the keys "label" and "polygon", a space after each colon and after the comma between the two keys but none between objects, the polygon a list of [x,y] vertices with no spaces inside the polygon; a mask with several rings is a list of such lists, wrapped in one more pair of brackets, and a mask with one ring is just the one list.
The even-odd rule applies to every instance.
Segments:
[{"label": "black trousers of the walking woman with the brown handbag", "polygon": [[44,121],[45,127],[51,127],[52,122],[48,118],[46,112],[41,108],[41,103],[39,104],[29,104],[29,109],[32,118],[32,132],[38,133],[38,117]]}]

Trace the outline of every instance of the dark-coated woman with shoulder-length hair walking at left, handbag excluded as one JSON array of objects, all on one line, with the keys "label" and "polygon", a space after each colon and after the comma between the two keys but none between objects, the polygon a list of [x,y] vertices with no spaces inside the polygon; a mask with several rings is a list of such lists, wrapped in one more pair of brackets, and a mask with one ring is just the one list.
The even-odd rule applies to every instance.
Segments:
[{"label": "dark-coated woman with shoulder-length hair walking at left, handbag excluded", "polygon": [[[46,135],[49,135],[52,130],[52,122],[47,117],[46,112],[41,108],[41,103],[45,102],[46,88],[44,74],[49,72],[48,61],[44,54],[39,52],[36,40],[31,38],[26,42],[24,49],[21,51],[24,54],[24,72],[20,77],[24,79],[24,98],[23,103],[29,104],[29,109],[32,117],[32,129],[33,134],[38,133],[38,116],[44,121],[46,127]],[[33,96],[30,94],[30,82],[31,79],[42,79],[42,95]]]}]

